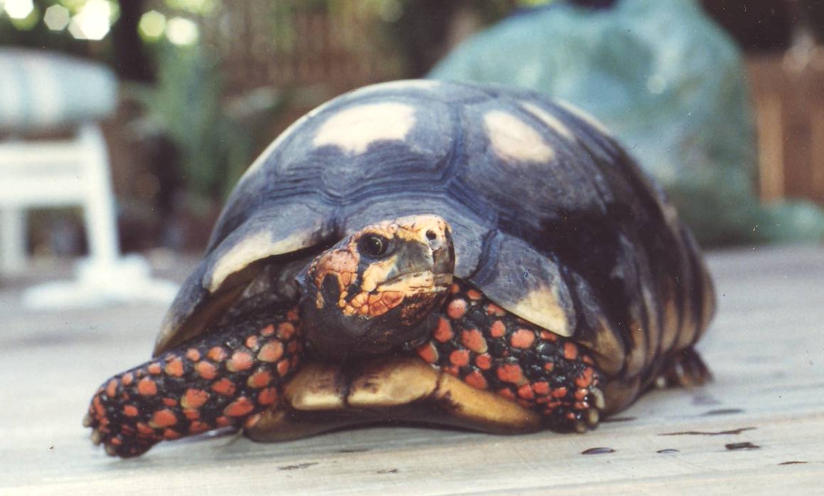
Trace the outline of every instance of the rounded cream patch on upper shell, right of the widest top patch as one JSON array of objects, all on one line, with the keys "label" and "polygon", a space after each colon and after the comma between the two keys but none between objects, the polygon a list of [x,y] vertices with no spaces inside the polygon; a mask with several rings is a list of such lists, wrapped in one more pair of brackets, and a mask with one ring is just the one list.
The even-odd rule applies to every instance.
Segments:
[{"label": "rounded cream patch on upper shell, right of the widest top patch", "polygon": [[555,151],[534,127],[513,114],[492,110],[484,114],[484,127],[492,149],[508,162],[546,162]]}]

